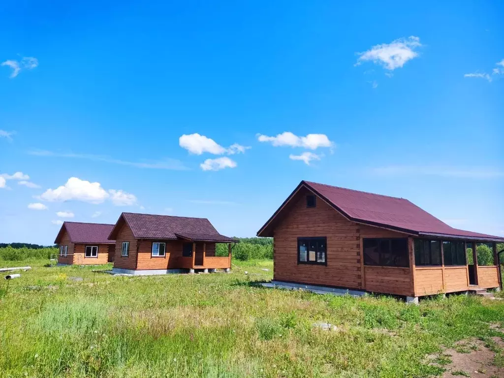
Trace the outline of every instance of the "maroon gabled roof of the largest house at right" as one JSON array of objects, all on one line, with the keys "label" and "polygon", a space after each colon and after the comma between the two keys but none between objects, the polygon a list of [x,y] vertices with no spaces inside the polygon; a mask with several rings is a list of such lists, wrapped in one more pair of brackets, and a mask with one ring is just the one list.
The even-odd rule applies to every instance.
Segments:
[{"label": "maroon gabled roof of the largest house at right", "polygon": [[301,187],[321,197],[350,221],[384,227],[412,235],[460,237],[464,239],[504,241],[504,237],[459,230],[440,221],[404,198],[382,196],[338,186],[301,181],[294,192],[259,230],[258,236],[270,236],[276,216]]}]

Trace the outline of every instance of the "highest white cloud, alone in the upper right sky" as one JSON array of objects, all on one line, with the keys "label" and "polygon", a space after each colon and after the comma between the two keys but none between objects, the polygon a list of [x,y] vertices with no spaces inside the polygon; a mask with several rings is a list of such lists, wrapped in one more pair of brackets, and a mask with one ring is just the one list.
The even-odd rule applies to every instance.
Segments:
[{"label": "highest white cloud, alone in the upper right sky", "polygon": [[408,38],[399,38],[391,43],[382,43],[372,46],[369,50],[358,52],[356,66],[363,61],[371,60],[375,64],[382,65],[386,70],[393,71],[403,67],[408,60],[416,58],[418,53],[416,48],[421,47],[420,38],[410,36]]}]

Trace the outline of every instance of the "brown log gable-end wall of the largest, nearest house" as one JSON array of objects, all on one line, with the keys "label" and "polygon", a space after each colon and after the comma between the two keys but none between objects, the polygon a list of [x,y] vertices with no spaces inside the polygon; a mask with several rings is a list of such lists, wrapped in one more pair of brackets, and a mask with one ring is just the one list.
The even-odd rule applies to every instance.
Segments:
[{"label": "brown log gable-end wall of the largest, nearest house", "polygon": [[[273,276],[278,281],[361,288],[359,226],[317,197],[306,207],[300,190],[274,230]],[[297,263],[298,237],[327,237],[327,266]]]}]

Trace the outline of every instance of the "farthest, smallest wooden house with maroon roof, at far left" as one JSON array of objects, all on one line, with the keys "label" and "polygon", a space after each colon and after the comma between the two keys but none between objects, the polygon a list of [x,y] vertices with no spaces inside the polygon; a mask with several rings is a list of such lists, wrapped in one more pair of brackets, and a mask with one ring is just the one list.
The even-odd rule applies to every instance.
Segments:
[{"label": "farthest, smallest wooden house with maroon roof, at far left", "polygon": [[99,265],[114,261],[113,224],[64,222],[54,240],[58,265]]}]

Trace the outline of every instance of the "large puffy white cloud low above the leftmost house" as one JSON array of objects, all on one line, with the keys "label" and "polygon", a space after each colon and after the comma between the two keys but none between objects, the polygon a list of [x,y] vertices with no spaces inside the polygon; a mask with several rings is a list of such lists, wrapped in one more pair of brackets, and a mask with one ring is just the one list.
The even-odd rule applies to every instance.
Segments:
[{"label": "large puffy white cloud low above the leftmost house", "polygon": [[108,198],[108,193],[99,182],[89,182],[77,177],[70,177],[65,185],[48,189],[40,198],[49,202],[83,201],[100,204]]}]

